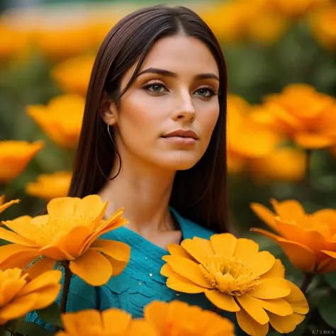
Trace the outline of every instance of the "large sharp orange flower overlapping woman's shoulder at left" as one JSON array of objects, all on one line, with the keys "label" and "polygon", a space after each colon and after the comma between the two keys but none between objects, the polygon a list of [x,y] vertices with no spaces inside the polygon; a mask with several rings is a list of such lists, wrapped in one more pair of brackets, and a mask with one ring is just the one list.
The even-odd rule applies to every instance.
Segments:
[{"label": "large sharp orange flower overlapping woman's shoulder at left", "polygon": [[13,244],[0,247],[0,269],[29,265],[27,271],[35,277],[57,261],[69,260],[72,273],[91,286],[106,284],[130,259],[128,245],[97,239],[128,223],[121,218],[123,208],[102,220],[107,204],[98,195],[54,198],[47,204],[47,215],[3,222],[13,232],[0,228],[0,238]]}]

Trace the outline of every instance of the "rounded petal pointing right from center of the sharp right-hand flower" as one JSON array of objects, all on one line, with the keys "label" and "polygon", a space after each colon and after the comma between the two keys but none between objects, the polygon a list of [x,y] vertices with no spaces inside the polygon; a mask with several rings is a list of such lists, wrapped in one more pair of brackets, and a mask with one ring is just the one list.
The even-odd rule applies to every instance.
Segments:
[{"label": "rounded petal pointing right from center of the sharp right-hand flower", "polygon": [[262,279],[262,283],[254,288],[250,293],[254,298],[272,299],[284,298],[291,293],[291,287],[285,279]]}]

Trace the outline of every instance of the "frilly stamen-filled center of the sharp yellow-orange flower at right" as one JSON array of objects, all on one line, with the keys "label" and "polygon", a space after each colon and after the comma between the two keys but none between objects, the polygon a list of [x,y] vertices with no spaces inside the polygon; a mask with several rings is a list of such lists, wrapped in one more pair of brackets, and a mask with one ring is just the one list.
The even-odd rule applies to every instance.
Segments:
[{"label": "frilly stamen-filled center of the sharp yellow-orange flower at right", "polygon": [[207,259],[204,264],[199,265],[203,276],[221,293],[241,296],[247,291],[253,291],[254,287],[261,283],[252,267],[235,257],[222,259],[215,254],[214,257]]}]

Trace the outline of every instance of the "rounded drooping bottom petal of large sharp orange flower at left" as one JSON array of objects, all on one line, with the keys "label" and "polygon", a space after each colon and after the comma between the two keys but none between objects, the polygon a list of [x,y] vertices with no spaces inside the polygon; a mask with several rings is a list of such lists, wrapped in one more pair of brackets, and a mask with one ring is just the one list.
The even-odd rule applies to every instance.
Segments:
[{"label": "rounded drooping bottom petal of large sharp orange flower at left", "polygon": [[69,269],[91,286],[103,286],[112,276],[110,262],[95,250],[87,250],[81,257],[72,260]]}]

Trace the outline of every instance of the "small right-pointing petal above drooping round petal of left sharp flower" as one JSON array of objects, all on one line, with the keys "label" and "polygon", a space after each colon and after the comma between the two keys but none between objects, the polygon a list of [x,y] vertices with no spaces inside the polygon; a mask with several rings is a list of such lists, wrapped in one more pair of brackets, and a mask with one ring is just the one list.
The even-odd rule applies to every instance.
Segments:
[{"label": "small right-pointing petal above drooping round petal of left sharp flower", "polygon": [[97,239],[91,244],[91,249],[98,250],[120,262],[130,260],[130,246],[116,240]]}]

